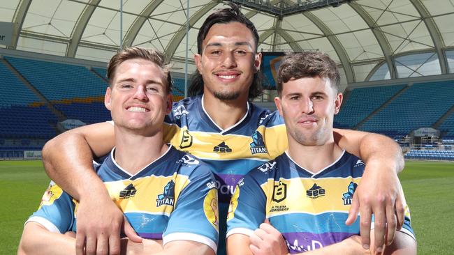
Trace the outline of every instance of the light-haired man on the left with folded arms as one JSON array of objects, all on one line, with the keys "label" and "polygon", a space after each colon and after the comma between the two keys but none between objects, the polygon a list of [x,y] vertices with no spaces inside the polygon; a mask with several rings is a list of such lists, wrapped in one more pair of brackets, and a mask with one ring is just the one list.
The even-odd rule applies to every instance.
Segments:
[{"label": "light-haired man on the left with folded arms", "polygon": [[[163,54],[124,49],[112,57],[108,79],[104,102],[115,121],[116,147],[96,165],[96,173],[144,238],[122,240],[122,250],[215,254],[217,190],[212,172],[163,141],[162,123],[172,106],[170,70]],[[18,254],[75,254],[75,237],[66,232],[76,231],[77,208],[78,201],[52,182],[24,226]],[[93,252],[89,249],[87,253]]]}]

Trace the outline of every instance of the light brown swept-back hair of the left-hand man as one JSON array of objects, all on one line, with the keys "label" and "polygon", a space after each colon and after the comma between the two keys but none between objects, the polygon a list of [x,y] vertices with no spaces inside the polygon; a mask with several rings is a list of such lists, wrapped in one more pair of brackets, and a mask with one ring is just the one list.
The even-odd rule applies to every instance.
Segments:
[{"label": "light brown swept-back hair of the left-hand man", "polygon": [[107,78],[110,86],[112,86],[113,79],[115,77],[115,72],[119,65],[124,61],[129,59],[144,59],[155,63],[160,68],[162,68],[164,75],[167,76],[166,88],[167,93],[172,92],[172,77],[170,76],[170,64],[166,62],[164,54],[155,50],[155,49],[145,49],[142,47],[129,47],[123,49],[122,51],[112,56],[107,68]]}]

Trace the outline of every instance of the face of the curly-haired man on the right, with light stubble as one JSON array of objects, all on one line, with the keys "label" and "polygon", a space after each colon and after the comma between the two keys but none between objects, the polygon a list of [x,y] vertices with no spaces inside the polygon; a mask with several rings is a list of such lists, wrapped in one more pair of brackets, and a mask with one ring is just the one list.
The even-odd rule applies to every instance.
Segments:
[{"label": "face of the curly-haired man on the right, with light stubble", "polygon": [[289,143],[321,146],[332,140],[332,122],[342,104],[342,93],[328,79],[290,79],[282,84],[281,96],[274,102],[284,117]]}]

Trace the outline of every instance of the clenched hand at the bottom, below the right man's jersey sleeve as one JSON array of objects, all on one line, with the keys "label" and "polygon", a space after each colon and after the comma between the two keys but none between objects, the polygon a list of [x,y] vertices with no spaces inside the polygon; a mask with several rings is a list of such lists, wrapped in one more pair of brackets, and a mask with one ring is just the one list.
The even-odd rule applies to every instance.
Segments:
[{"label": "clenched hand at the bottom, below the right man's jersey sleeve", "polygon": [[281,255],[288,254],[288,248],[281,233],[270,225],[268,219],[260,224],[250,237],[249,249],[254,255]]}]

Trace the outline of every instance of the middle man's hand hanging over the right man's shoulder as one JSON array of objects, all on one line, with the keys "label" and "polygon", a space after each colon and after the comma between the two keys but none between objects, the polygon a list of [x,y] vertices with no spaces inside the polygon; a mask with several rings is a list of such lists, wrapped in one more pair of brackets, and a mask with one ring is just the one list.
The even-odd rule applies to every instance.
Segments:
[{"label": "middle man's hand hanging over the right man's shoulder", "polygon": [[[370,169],[370,170],[367,170]],[[383,162],[369,160],[358,185],[349,211],[347,225],[353,224],[360,212],[360,236],[365,249],[369,249],[372,214],[374,214],[374,247],[393,242],[396,229],[404,223],[404,198],[397,173]]]}]

